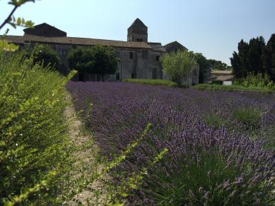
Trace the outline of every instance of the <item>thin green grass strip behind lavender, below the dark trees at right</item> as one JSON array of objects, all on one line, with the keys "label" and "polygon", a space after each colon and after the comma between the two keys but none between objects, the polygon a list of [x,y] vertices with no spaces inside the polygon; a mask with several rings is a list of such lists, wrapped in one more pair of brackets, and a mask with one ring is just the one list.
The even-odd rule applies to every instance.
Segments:
[{"label": "thin green grass strip behind lavender, below the dark trees at right", "polygon": [[243,87],[239,85],[219,85],[219,84],[197,84],[193,86],[193,88],[197,88],[200,90],[210,89],[210,90],[228,90],[228,91],[275,91],[275,88],[267,88],[267,87]]}]

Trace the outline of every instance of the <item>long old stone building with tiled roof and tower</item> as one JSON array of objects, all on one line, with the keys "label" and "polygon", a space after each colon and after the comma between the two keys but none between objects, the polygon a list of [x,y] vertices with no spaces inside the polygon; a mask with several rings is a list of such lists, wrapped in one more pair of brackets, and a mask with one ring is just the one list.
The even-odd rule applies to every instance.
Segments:
[{"label": "long old stone building with tiled roof and tower", "polygon": [[[35,25],[23,31],[23,36],[8,35],[4,39],[19,45],[20,49],[32,47],[36,43],[51,45],[61,56],[61,73],[65,74],[69,71],[66,56],[70,49],[97,44],[113,47],[120,62],[117,73],[104,77],[104,80],[107,81],[121,81],[126,78],[168,79],[162,72],[159,57],[178,49],[187,50],[177,41],[165,46],[162,46],[162,43],[148,42],[148,28],[140,19],[136,19],[128,28],[127,41],[69,37],[66,32],[47,23]],[[78,73],[75,78],[81,81],[99,81],[101,77],[95,74]],[[185,81],[188,84],[197,84],[199,82],[199,67],[195,67]]]}]

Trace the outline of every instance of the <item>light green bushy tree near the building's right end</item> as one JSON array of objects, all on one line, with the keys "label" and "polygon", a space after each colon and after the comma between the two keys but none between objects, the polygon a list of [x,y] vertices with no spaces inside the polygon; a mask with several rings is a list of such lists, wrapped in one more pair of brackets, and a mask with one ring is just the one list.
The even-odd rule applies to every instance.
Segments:
[{"label": "light green bushy tree near the building's right end", "polygon": [[171,52],[161,56],[159,60],[164,73],[177,84],[181,84],[182,78],[188,76],[196,65],[195,55],[186,51]]}]

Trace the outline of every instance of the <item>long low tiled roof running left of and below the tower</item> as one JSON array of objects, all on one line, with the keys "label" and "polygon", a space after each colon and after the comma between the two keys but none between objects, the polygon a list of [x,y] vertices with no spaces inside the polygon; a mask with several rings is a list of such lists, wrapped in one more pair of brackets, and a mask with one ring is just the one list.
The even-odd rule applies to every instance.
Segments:
[{"label": "long low tiled roof running left of and below the tower", "polygon": [[127,42],[113,41],[96,38],[78,38],[78,37],[51,37],[51,36],[34,36],[25,34],[24,36],[4,36],[4,40],[10,43],[23,44],[28,42],[33,43],[53,43],[64,45],[106,45],[111,47],[126,47],[136,49],[151,49],[151,46],[146,42]]}]

